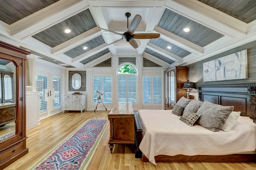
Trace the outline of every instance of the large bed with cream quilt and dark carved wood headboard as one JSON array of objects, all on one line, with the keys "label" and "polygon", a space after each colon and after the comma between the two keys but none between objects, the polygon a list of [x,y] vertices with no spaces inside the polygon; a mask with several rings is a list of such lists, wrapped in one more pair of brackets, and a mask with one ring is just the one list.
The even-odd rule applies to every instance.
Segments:
[{"label": "large bed with cream quilt and dark carved wood headboard", "polygon": [[189,126],[172,110],[134,111],[135,157],[155,165],[156,162],[256,162],[255,86],[198,86],[199,100],[204,104],[234,106],[232,112],[239,111],[232,129],[226,132],[213,132],[198,124]]}]

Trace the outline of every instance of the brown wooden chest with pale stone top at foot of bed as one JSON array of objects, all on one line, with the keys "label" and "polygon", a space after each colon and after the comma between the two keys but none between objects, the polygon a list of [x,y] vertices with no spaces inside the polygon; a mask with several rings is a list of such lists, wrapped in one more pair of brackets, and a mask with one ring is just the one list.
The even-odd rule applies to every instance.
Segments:
[{"label": "brown wooden chest with pale stone top at foot of bed", "polygon": [[108,141],[112,153],[114,144],[134,145],[134,113],[131,102],[118,102],[108,114],[110,138]]}]

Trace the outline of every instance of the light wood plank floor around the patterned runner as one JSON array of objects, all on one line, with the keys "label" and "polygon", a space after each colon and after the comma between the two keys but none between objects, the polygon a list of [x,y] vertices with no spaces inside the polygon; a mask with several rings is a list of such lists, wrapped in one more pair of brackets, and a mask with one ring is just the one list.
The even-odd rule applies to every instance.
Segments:
[{"label": "light wood plank floor around the patterned runner", "polygon": [[[87,119],[107,119],[106,111],[83,113],[65,112],[41,120],[38,127],[27,131],[28,154],[6,167],[4,170],[27,170],[44,154],[50,151],[66,136]],[[115,145],[113,153],[108,148],[109,125],[88,166],[88,170],[256,170],[256,163],[157,163],[142,162],[135,158],[130,145]]]}]

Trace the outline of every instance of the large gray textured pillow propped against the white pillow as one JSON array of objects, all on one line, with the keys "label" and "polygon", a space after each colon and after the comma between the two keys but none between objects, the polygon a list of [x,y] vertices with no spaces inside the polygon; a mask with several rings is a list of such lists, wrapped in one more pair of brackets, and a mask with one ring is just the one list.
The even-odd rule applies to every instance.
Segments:
[{"label": "large gray textured pillow propped against the white pillow", "polygon": [[197,123],[210,131],[220,131],[233,109],[234,106],[221,106],[205,100],[196,112],[201,115]]}]

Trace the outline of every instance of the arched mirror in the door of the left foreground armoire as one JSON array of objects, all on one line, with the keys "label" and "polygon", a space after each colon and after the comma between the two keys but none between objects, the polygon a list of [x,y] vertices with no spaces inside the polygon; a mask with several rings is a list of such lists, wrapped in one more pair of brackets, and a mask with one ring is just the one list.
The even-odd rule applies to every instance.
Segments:
[{"label": "arched mirror in the door of the left foreground armoire", "polygon": [[16,66],[0,59],[0,141],[16,134]]}]

